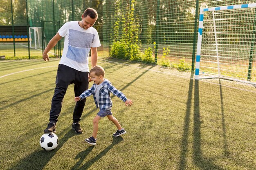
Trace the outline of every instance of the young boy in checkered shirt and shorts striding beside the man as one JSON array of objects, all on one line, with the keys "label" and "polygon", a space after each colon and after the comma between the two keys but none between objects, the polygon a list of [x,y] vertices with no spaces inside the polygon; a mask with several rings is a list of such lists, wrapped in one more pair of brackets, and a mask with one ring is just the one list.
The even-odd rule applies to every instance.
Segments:
[{"label": "young boy in checkered shirt and shorts striding beside the man", "polygon": [[99,113],[93,119],[93,133],[92,136],[85,139],[88,144],[96,145],[97,140],[97,132],[98,132],[98,124],[99,120],[102,117],[107,116],[109,120],[111,120],[117,126],[117,132],[113,134],[114,137],[118,137],[120,135],[124,135],[126,131],[121,127],[118,120],[112,115],[112,101],[110,98],[110,92],[119,97],[121,100],[125,102],[126,106],[132,106],[132,100],[127,99],[126,96],[119,90],[117,90],[114,86],[112,86],[111,82],[108,79],[104,79],[105,71],[101,66],[94,66],[90,70],[90,77],[94,84],[90,89],[83,92],[79,97],[75,97],[75,101],[78,102],[90,95],[93,95],[94,102],[96,107],[99,108]]}]

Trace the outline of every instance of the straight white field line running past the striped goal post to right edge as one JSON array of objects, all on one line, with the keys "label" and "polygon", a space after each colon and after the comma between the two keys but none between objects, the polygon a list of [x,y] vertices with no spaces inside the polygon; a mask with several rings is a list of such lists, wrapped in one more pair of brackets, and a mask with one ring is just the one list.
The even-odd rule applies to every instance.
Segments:
[{"label": "straight white field line running past the striped goal post to right edge", "polygon": [[[112,62],[112,61],[107,61],[107,60],[104,60],[104,61]],[[119,62],[112,62],[112,63],[123,64],[123,63],[119,63]],[[129,64],[123,64],[123,65],[131,66],[131,67],[135,67],[135,68],[140,68],[140,69],[144,69],[144,70],[148,70],[148,71],[154,71],[154,72],[157,72],[157,73],[164,73],[164,74],[168,74],[168,75],[174,75],[176,77],[182,77],[182,78],[185,78],[185,79],[194,79],[194,78],[191,78],[191,77],[186,77],[186,76],[182,76],[182,75],[176,75],[176,74],[172,74],[172,73],[168,73],[168,72],[164,72],[164,71],[151,70],[151,69],[147,69],[147,68],[143,68],[143,67],[139,67],[139,66],[132,66],[132,65],[129,65]],[[236,88],[236,87],[227,86],[227,85],[224,85],[224,84],[208,82],[208,81],[202,80],[202,79],[198,79],[198,81],[207,82],[209,84],[216,84],[216,85],[220,85],[220,86],[225,86],[225,87],[228,87],[228,88],[234,88],[234,89],[241,90],[241,91],[247,91],[247,92],[256,93],[256,91],[249,91],[249,90],[246,90],[246,89],[243,89],[243,88]]]}]

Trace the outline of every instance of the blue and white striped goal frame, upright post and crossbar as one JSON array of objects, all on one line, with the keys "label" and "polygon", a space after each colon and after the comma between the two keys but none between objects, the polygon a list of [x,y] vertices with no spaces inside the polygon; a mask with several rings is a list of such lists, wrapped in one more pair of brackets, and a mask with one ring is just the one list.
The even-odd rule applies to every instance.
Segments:
[{"label": "blue and white striped goal frame, upright post and crossbar", "polygon": [[200,9],[199,14],[199,26],[198,26],[198,46],[196,51],[196,62],[195,62],[195,79],[199,79],[199,66],[200,66],[200,55],[201,55],[201,45],[202,45],[202,32],[203,32],[203,21],[204,21],[204,12],[205,11],[221,11],[221,10],[230,10],[230,9],[241,9],[241,8],[252,8],[256,7],[256,3],[252,4],[240,4],[240,5],[230,5],[223,7],[212,7]]}]

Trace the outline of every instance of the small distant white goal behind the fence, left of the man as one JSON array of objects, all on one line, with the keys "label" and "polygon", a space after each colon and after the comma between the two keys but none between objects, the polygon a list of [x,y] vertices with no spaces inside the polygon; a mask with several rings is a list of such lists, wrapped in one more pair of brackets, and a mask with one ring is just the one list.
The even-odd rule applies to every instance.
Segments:
[{"label": "small distant white goal behind the fence, left of the man", "polygon": [[29,27],[29,45],[32,49],[42,49],[42,28]]}]

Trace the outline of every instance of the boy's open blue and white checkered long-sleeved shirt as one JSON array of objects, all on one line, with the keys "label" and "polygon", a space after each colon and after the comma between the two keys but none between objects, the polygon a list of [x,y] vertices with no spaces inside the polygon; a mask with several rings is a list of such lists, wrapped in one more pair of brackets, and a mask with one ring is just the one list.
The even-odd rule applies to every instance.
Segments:
[{"label": "boy's open blue and white checkered long-sleeved shirt", "polygon": [[96,104],[96,107],[100,109],[108,109],[110,106],[112,106],[112,101],[110,98],[110,92],[113,93],[115,96],[119,97],[119,99],[126,102],[127,98],[121,91],[117,90],[108,79],[104,79],[102,83],[102,87],[99,90],[99,104],[95,97],[95,86],[96,84],[93,84],[92,87],[85,92],[83,92],[79,97],[80,100],[84,99],[85,97],[89,97],[90,95],[93,95],[94,102]]}]

